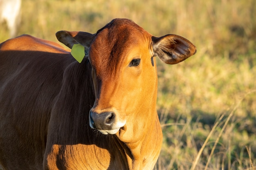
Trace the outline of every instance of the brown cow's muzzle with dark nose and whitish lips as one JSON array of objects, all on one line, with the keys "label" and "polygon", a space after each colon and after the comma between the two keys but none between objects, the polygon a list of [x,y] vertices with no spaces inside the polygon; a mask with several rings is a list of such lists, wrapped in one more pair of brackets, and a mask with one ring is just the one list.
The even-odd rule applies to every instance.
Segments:
[{"label": "brown cow's muzzle with dark nose and whitish lips", "polygon": [[104,135],[114,135],[126,124],[126,121],[118,121],[117,114],[113,111],[97,113],[90,110],[89,122],[91,128],[99,130]]}]

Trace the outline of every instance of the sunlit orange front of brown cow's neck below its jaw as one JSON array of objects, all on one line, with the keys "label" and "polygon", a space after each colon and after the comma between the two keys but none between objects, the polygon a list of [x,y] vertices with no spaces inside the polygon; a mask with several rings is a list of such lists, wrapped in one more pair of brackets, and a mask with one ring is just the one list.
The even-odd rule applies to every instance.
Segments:
[{"label": "sunlit orange front of brown cow's neck below its jaw", "polygon": [[[120,146],[126,154],[126,159],[130,170],[137,169],[152,169],[155,165],[161,146],[162,146],[162,129],[159,123],[157,113],[150,113],[154,118],[148,118],[152,123],[144,125],[147,129],[140,136],[135,137],[137,140],[130,142],[124,142],[119,139],[117,134],[117,140]],[[159,147],[158,147],[159,146]]]}]

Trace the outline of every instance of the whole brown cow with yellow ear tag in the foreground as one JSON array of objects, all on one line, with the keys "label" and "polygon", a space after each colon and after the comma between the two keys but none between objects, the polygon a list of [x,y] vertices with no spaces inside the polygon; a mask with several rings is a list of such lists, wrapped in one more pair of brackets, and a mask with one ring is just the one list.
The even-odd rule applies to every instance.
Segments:
[{"label": "whole brown cow with yellow ear tag in the foreground", "polygon": [[128,19],[91,34],[58,31],[61,45],[21,35],[0,44],[0,165],[4,170],[150,170],[162,146],[155,57],[196,53]]}]

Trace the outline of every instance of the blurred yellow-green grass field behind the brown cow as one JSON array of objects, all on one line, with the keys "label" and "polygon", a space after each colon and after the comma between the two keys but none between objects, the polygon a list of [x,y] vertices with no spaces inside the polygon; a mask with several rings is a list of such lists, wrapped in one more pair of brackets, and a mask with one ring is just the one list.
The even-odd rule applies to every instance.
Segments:
[{"label": "blurred yellow-green grass field behind the brown cow", "polygon": [[[95,33],[129,18],[155,36],[181,35],[196,55],[157,60],[164,134],[156,170],[256,169],[255,0],[23,0],[18,35],[57,42],[59,30]],[[0,26],[0,41],[8,39]]]}]

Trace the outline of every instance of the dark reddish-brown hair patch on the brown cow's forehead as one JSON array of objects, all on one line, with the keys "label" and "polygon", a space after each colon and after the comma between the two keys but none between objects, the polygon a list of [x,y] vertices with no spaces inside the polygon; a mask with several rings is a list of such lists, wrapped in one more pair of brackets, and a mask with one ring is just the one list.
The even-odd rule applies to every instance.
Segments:
[{"label": "dark reddish-brown hair patch on the brown cow's forehead", "polygon": [[141,29],[132,20],[115,19],[97,31],[90,57],[98,76],[111,78],[119,73],[128,47],[137,43],[134,31],[141,33]]}]

